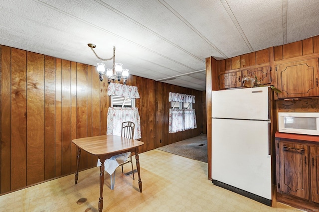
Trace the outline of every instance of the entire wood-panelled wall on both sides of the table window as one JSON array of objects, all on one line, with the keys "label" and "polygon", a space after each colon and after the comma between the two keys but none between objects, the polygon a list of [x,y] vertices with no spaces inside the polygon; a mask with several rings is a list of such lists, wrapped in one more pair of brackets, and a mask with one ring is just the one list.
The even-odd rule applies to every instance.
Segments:
[{"label": "entire wood-panelled wall on both sides of the table window", "polygon": [[[132,75],[127,84],[141,96],[140,152],[202,133],[203,92]],[[106,133],[107,87],[90,65],[0,46],[0,194],[74,173],[71,140]],[[168,134],[170,91],[195,95],[197,129]],[[80,169],[96,164],[82,152]]]}]

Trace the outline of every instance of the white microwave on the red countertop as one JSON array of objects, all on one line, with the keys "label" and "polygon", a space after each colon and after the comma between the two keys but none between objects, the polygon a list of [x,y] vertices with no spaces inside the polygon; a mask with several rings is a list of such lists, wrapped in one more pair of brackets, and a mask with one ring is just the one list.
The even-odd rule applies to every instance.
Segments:
[{"label": "white microwave on the red countertop", "polygon": [[278,130],[319,135],[319,112],[278,112]]}]

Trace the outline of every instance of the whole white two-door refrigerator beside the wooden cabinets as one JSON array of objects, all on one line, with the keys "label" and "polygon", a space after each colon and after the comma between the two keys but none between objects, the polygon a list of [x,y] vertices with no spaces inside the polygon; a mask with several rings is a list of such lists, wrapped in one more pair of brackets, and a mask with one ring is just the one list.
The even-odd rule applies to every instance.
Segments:
[{"label": "whole white two-door refrigerator beside the wooden cabinets", "polygon": [[271,206],[270,87],[212,92],[212,180]]}]

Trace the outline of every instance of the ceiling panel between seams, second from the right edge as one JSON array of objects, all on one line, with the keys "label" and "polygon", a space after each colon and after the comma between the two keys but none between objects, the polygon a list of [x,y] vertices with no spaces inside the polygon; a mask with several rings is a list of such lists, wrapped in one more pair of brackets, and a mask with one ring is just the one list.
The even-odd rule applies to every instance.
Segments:
[{"label": "ceiling panel between seams, second from the right edge", "polygon": [[227,4],[252,52],[283,44],[281,0],[227,0]]}]

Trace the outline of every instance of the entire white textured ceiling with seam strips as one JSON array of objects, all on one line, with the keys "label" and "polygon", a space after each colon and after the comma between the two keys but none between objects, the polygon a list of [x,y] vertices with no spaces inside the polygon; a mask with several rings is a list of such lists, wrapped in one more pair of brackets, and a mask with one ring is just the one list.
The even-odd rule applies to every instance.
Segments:
[{"label": "entire white textured ceiling with seam strips", "polygon": [[318,11],[318,0],[0,0],[0,44],[94,66],[88,43],[102,58],[116,46],[130,74],[204,91],[205,58],[319,35]]}]

